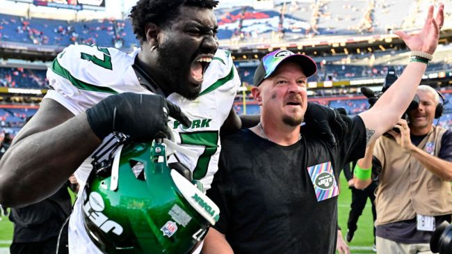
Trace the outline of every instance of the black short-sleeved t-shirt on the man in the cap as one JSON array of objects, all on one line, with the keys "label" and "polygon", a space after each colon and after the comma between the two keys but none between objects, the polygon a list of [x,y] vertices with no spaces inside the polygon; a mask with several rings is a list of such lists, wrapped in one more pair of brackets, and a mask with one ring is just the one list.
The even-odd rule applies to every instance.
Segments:
[{"label": "black short-sleeved t-shirt on the man in the cap", "polygon": [[309,136],[281,146],[249,129],[222,138],[207,195],[220,207],[214,228],[234,253],[334,253],[340,168],[363,157],[366,144],[360,117],[349,129],[334,148]]}]

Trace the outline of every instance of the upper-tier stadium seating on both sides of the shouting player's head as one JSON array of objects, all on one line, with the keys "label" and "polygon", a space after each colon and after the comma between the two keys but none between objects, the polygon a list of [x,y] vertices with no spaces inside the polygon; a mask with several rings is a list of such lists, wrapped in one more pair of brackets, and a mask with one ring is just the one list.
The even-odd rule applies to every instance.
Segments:
[{"label": "upper-tier stadium seating on both sides of the shouting player's head", "polygon": [[[428,1],[430,4],[431,1]],[[452,0],[446,0],[446,6]],[[314,35],[392,33],[394,29],[419,28],[426,1],[318,0],[276,1],[274,8],[251,6],[218,8],[218,38],[234,41],[300,40]],[[406,15],[401,15],[403,10]],[[410,11],[411,10],[411,11]],[[346,13],[346,15],[344,15]],[[446,19],[451,13],[445,13]],[[407,18],[402,19],[402,17]],[[0,41],[67,46],[73,43],[130,48],[138,45],[129,19],[94,19],[66,22],[0,14]]]}]

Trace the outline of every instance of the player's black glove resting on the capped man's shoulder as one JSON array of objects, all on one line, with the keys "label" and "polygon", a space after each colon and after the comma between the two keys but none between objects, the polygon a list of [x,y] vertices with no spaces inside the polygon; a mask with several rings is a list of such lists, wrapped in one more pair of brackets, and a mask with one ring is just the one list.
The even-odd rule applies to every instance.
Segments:
[{"label": "player's black glove resting on the capped man's shoulder", "polygon": [[[343,111],[344,109],[339,109]],[[328,106],[308,102],[305,113],[305,123],[302,132],[323,138],[329,145],[337,145],[337,138],[348,132],[350,118]]]}]

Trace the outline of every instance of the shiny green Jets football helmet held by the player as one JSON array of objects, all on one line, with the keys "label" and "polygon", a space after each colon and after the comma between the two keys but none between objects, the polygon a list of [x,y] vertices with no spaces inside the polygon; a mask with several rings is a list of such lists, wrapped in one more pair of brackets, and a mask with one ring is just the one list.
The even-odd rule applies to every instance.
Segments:
[{"label": "shiny green Jets football helmet held by the player", "polygon": [[83,191],[90,239],[104,253],[192,251],[218,221],[215,203],[168,166],[162,139],[108,149],[107,159],[95,158]]}]

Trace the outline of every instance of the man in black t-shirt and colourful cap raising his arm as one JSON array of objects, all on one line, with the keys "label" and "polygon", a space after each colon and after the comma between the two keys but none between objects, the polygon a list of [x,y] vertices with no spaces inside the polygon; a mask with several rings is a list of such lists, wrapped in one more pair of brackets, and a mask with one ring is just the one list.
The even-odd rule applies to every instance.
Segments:
[{"label": "man in black t-shirt and colourful cap raising his arm", "polygon": [[339,169],[362,157],[366,143],[394,126],[410,104],[442,26],[442,8],[437,22],[431,12],[419,35],[398,33],[418,61],[372,109],[346,118],[346,127],[333,122],[333,145],[300,129],[307,77],[316,72],[312,58],[288,50],[264,56],[252,88],[261,122],[222,138],[219,170],[207,192],[220,220],[203,253],[334,253]]}]

